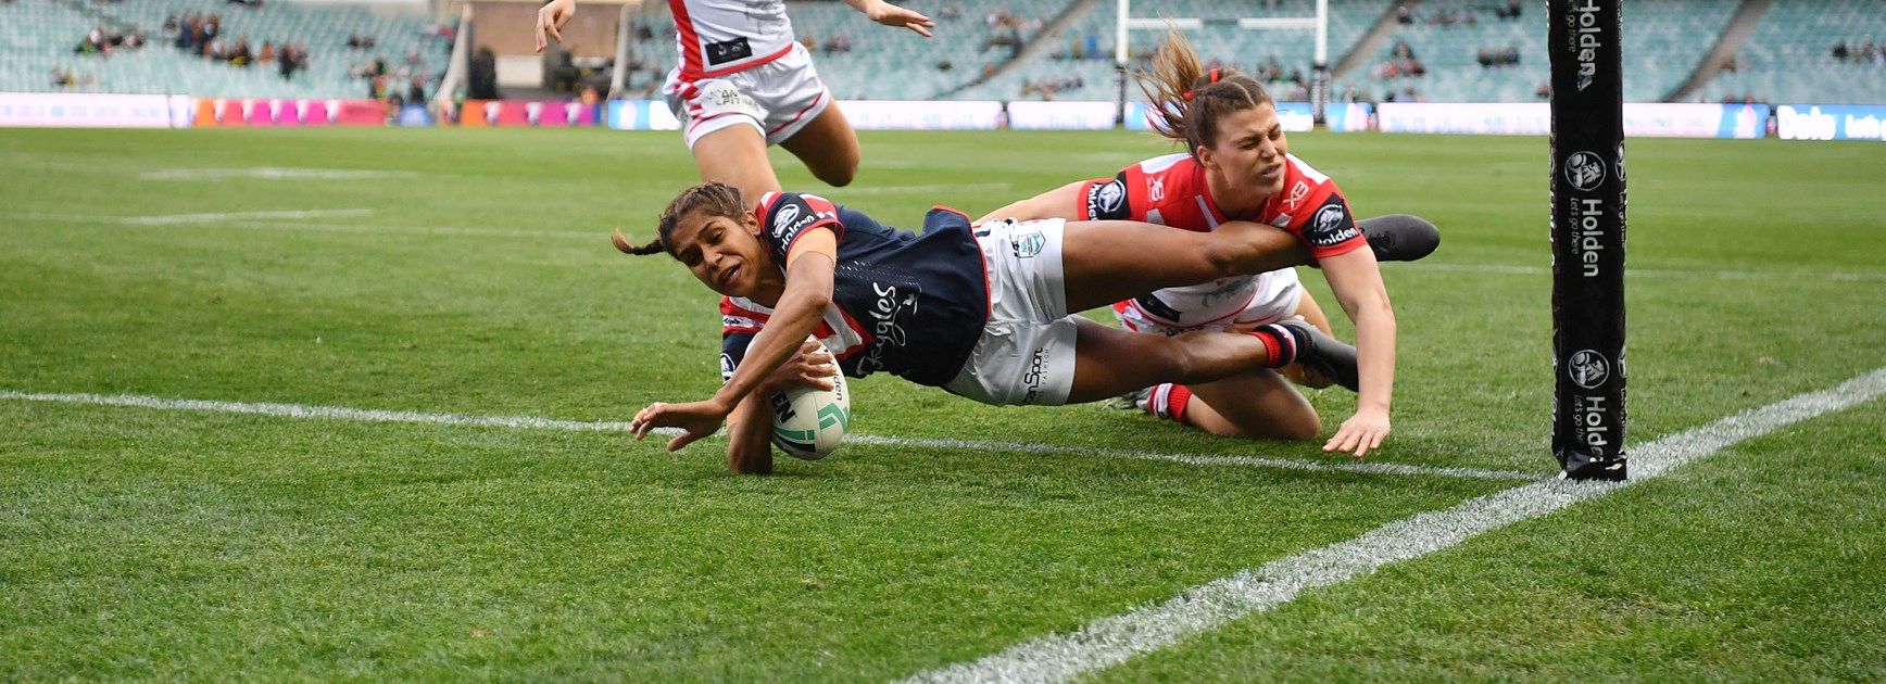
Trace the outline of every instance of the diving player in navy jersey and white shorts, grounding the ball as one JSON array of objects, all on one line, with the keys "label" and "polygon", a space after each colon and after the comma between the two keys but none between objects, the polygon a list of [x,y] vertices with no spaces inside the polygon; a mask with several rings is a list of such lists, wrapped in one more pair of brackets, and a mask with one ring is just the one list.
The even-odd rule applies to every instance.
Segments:
[{"label": "diving player in navy jersey and white shorts, grounding the ball", "polygon": [[[1113,249],[1133,245],[1135,249]],[[768,401],[747,401],[817,335],[845,375],[885,371],[994,405],[1096,401],[1156,383],[1211,383],[1305,362],[1354,373],[1354,352],[1301,320],[1249,332],[1139,335],[1071,311],[1181,283],[1266,273],[1309,258],[1282,230],[1232,220],[1184,232],[1130,220],[994,220],[932,209],[924,232],[886,228],[811,194],[768,192],[754,209],[722,183],[662,211],[666,251],[724,296],[726,383],[705,401],[651,403],[637,439],[683,428],[681,448],[728,428],[728,467],[771,469]],[[792,375],[792,369],[785,371]]]}]

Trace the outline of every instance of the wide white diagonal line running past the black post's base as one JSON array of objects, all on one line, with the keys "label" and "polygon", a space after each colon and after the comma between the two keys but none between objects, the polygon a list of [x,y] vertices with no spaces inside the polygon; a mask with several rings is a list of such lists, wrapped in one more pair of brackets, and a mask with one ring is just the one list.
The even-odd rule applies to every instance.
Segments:
[{"label": "wide white diagonal line running past the black post's base", "polygon": [[1264,567],[1179,592],[1084,627],[1011,646],[1000,654],[911,676],[907,682],[1066,682],[1275,609],[1303,590],[1328,586],[1420,558],[1513,522],[1556,513],[1709,458],[1743,439],[1841,411],[1886,394],[1886,367],[1831,390],[1809,392],[1631,448],[1631,480],[1541,480],[1381,526],[1362,537],[1281,558]]}]

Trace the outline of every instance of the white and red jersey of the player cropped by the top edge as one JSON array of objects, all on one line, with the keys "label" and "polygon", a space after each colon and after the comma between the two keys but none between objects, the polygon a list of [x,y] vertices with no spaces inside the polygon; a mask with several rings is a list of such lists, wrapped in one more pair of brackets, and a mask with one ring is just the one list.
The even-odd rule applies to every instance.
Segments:
[{"label": "white and red jersey of the player cropped by the top edge", "polygon": [[792,19],[781,0],[668,0],[675,13],[681,79],[734,73],[792,49]]}]

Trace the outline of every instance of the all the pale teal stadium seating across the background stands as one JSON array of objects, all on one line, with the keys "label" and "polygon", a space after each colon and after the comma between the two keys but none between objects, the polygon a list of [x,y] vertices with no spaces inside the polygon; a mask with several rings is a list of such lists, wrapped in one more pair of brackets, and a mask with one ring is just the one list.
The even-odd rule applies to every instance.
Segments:
[{"label": "all the pale teal stadium seating across the background stands", "polygon": [[[1547,83],[1545,15],[1535,2],[1522,2],[1518,21],[1496,17],[1497,0],[1428,0],[1413,6],[1411,23],[1392,26],[1388,38],[1369,51],[1369,58],[1348,73],[1337,73],[1333,96],[1384,100],[1386,94],[1416,90],[1428,102],[1533,102]],[[1626,83],[1630,102],[1658,102],[1671,96],[1716,45],[1735,15],[1737,2],[1630,0],[1624,8]],[[1054,17],[1079,9],[1067,26],[1043,30]],[[1330,2],[1330,60],[1345,57],[1390,8],[1390,0]],[[1111,100],[1113,4],[1079,0],[962,0],[920,6],[939,21],[937,38],[922,40],[905,30],[871,24],[841,2],[794,2],[788,8],[800,38],[817,43],[815,60],[826,85],[847,100]],[[283,79],[272,66],[232,68],[174,47],[160,28],[166,17],[219,13],[223,38],[298,41],[311,51],[302,73]],[[1313,30],[1243,30],[1239,17],[1307,17],[1315,0],[1171,0],[1137,2],[1133,15],[1199,17],[1207,24],[1186,36],[1207,62],[1237,66],[1258,73],[1275,60],[1282,77],[1271,79],[1279,98],[1301,96],[1290,72],[1309,72]],[[1467,13],[1475,21],[1464,21]],[[1024,41],[1045,41],[1018,64],[1005,64],[1007,45],[992,43],[998,30],[988,17],[1011,13],[1032,19]],[[1439,24],[1431,17],[1450,13],[1456,23]],[[662,75],[675,62],[673,21],[666,4],[649,4],[636,17],[654,30],[630,45],[641,68],[626,79],[628,96],[656,96]],[[104,55],[75,55],[74,47],[94,26],[123,32],[141,28],[147,45]],[[243,98],[360,98],[368,83],[349,72],[385,55],[394,70],[404,68],[409,51],[419,51],[419,72],[438,77],[445,70],[449,41],[428,32],[422,17],[383,13],[368,6],[270,2],[251,9],[224,0],[13,0],[0,2],[0,90],[9,92],[185,92],[198,96]],[[373,34],[375,49],[345,47],[349,34]],[[849,51],[830,51],[834,38],[849,40]],[[1133,30],[1132,53],[1143,58],[1162,38],[1158,30]],[[1858,51],[1865,41],[1886,41],[1886,11],[1877,0],[1790,0],[1777,2],[1762,17],[1754,34],[1737,51],[1735,70],[1712,73],[1688,100],[1880,104],[1886,102],[1886,64],[1871,58],[1829,57],[1835,43]],[[1407,43],[1420,58],[1424,75],[1386,75],[1381,64],[1394,45]],[[1479,51],[1514,47],[1518,64],[1481,66]],[[943,68],[943,64],[949,68]],[[1886,58],[1882,58],[1886,62]],[[981,81],[986,72],[1000,75]],[[55,70],[72,72],[77,81],[55,85]],[[404,83],[404,81],[400,81]],[[1041,85],[1052,85],[1043,94]],[[1075,87],[1077,85],[1077,87]],[[404,90],[404,89],[402,89]]]}]

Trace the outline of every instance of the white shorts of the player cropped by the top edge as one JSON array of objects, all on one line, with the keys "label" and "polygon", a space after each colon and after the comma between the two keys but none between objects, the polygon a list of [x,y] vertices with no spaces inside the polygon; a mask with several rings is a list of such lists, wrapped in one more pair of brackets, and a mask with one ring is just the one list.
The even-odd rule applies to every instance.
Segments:
[{"label": "white shorts of the player cropped by the top edge", "polygon": [[832,92],[800,43],[777,60],[700,81],[683,81],[675,66],[662,96],[687,130],[688,149],[715,130],[741,124],[758,128],[768,145],[779,145],[832,106]]}]

